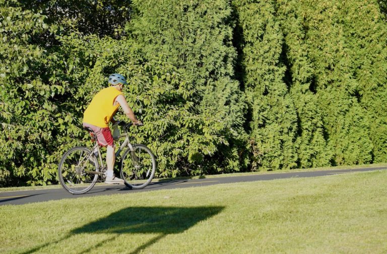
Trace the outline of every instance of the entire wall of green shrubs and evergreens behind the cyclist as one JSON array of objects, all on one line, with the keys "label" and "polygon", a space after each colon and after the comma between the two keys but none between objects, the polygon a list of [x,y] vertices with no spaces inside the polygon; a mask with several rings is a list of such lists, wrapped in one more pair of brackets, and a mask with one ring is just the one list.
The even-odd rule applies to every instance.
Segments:
[{"label": "entire wall of green shrubs and evergreens behind the cyclist", "polygon": [[0,186],[57,182],[61,154],[90,145],[82,114],[113,72],[160,177],[385,162],[385,10],[0,0]]}]

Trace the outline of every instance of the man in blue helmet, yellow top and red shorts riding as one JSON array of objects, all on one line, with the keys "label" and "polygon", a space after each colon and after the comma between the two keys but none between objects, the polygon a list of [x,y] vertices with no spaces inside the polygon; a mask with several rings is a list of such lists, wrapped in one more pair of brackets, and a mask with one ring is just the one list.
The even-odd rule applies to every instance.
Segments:
[{"label": "man in blue helmet, yellow top and red shorts riding", "polygon": [[126,99],[122,94],[123,86],[127,85],[126,79],[122,75],[115,73],[109,76],[108,84],[110,87],[99,91],[86,108],[83,114],[83,126],[93,130],[100,146],[107,146],[105,183],[114,184],[123,183],[124,181],[113,174],[115,146],[109,129],[109,122],[111,121],[113,124],[117,122],[113,116],[119,106],[121,106],[127,117],[132,120],[133,124],[141,124],[141,121],[136,118],[132,108],[127,105]]}]

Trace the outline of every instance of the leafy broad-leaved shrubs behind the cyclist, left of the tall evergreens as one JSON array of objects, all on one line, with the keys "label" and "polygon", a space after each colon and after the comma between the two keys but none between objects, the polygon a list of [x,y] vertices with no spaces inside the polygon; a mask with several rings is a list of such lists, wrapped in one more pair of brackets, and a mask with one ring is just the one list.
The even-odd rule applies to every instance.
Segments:
[{"label": "leafy broad-leaved shrubs behind the cyclist, left of the tall evergreens", "polygon": [[[13,4],[2,9],[2,22],[9,22],[6,29],[14,30],[3,31],[1,138],[6,148],[1,159],[17,179],[32,185],[55,182],[61,154],[85,143],[83,111],[112,72],[130,80],[127,99],[146,123],[133,130],[134,136],[155,152],[159,176],[235,171],[240,169],[239,160],[246,163],[246,156],[240,156],[235,147],[243,142],[243,96],[226,71],[216,79],[203,78],[206,85],[200,87],[192,82],[195,73],[165,60],[170,57],[167,52],[150,54],[151,46],[138,45],[130,38],[84,35],[77,29],[79,20],[63,21],[74,29],[67,30],[53,23],[56,16]],[[225,27],[231,38],[231,28]],[[45,45],[45,38],[54,39]],[[222,39],[217,42],[221,44]],[[8,52],[12,47],[8,40],[15,52]],[[215,53],[215,46],[210,46]],[[206,68],[212,66],[211,59],[206,59]],[[231,63],[222,62],[223,58],[217,64],[232,72]],[[220,148],[227,159],[219,159],[224,156]]]}]

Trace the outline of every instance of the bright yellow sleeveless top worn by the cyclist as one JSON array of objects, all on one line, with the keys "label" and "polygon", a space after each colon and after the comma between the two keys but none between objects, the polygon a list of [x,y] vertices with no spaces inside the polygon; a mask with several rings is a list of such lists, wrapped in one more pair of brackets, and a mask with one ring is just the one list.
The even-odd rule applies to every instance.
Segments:
[{"label": "bright yellow sleeveless top worn by the cyclist", "polygon": [[99,91],[91,100],[90,105],[83,113],[83,122],[106,128],[111,118],[119,107],[113,105],[115,98],[122,94],[114,87],[104,88]]}]

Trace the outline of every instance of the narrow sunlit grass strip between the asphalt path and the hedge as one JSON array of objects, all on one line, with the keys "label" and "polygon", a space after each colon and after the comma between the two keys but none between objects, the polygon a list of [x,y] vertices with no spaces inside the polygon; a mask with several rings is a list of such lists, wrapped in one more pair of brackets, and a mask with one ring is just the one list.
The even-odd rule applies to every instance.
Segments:
[{"label": "narrow sunlit grass strip between the asphalt path and the hedge", "polygon": [[[230,177],[230,176],[245,176],[245,175],[277,174],[277,173],[289,173],[289,172],[375,168],[375,167],[387,167],[387,163],[363,164],[363,165],[351,165],[351,166],[334,166],[334,167],[296,168],[296,169],[283,169],[283,170],[274,170],[274,171],[236,172],[236,173],[226,173],[226,174],[216,174],[216,175],[198,175],[198,176],[186,176],[186,177],[175,177],[175,178],[154,178],[152,182],[183,180],[183,179],[203,179],[203,178],[217,178],[217,177]],[[45,185],[45,186],[3,187],[3,188],[0,188],[0,193],[18,192],[18,191],[24,191],[24,190],[56,189],[56,188],[62,188],[62,186],[60,184],[56,184],[56,185]]]}]

